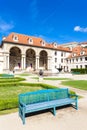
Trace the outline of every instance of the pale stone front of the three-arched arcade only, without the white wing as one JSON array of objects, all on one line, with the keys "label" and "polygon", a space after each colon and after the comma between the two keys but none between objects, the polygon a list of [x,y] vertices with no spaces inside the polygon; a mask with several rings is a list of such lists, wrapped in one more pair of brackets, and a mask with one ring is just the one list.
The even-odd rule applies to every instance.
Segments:
[{"label": "pale stone front of the three-arched arcade only, without the white wing", "polygon": [[[12,57],[10,56],[10,50],[12,48],[19,48],[19,50],[21,51],[21,57],[19,57],[17,55],[17,57]],[[34,52],[35,52],[35,60],[31,60],[29,61],[28,58],[26,59],[26,52],[27,50],[30,50],[32,49]],[[45,60],[45,63],[46,63],[46,69],[51,69],[51,66],[50,66],[50,63],[51,63],[51,50],[49,49],[45,49],[45,48],[39,48],[39,47],[33,47],[33,46],[24,46],[24,45],[16,45],[16,44],[11,44],[11,43],[4,43],[3,44],[3,50],[4,50],[4,54],[3,54],[3,58],[4,58],[4,67],[3,69],[4,70],[7,70],[7,69],[11,69],[13,70],[14,67],[17,68],[17,64],[20,63],[21,64],[21,69],[26,69],[26,61],[28,63],[28,67],[29,67],[29,64],[32,64],[33,65],[33,68],[34,69],[39,69],[39,66],[42,66],[41,65],[41,62],[40,62],[40,52],[41,51],[45,51],[47,53],[46,55],[46,60]],[[20,59],[21,58],[21,59]],[[42,59],[43,60],[43,59]],[[10,62],[9,62],[10,61]],[[16,64],[17,63],[17,64]],[[14,65],[15,64],[15,65]]]}]

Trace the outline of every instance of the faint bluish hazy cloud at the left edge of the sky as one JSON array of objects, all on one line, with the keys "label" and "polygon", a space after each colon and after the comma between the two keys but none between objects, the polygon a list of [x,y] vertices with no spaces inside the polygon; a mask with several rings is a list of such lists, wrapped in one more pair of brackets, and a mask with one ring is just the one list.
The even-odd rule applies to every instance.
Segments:
[{"label": "faint bluish hazy cloud at the left edge of the sky", "polygon": [[0,18],[0,33],[7,33],[9,30],[13,29],[13,22],[7,23],[3,19]]}]

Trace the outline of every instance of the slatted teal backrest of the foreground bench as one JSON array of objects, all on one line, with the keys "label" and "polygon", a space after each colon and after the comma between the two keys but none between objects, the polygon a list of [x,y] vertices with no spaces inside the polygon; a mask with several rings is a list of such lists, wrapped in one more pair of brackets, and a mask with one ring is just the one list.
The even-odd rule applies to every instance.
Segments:
[{"label": "slatted teal backrest of the foreground bench", "polygon": [[68,89],[46,89],[19,95],[19,102],[33,104],[68,97]]}]

